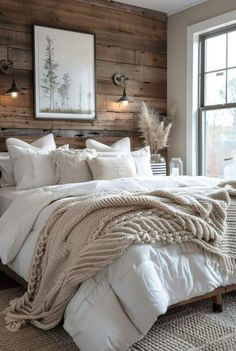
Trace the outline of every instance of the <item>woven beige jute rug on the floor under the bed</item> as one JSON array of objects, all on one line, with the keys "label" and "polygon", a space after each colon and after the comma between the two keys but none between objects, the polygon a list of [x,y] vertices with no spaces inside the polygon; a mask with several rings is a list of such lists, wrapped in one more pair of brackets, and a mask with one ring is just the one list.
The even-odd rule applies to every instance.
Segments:
[{"label": "woven beige jute rug on the floor under the bed", "polygon": [[[21,288],[0,291],[0,311]],[[236,293],[224,296],[224,312],[212,313],[210,301],[170,310],[129,351],[236,351]],[[44,332],[27,325],[6,331],[0,315],[0,351],[78,351],[62,325]],[[90,350],[88,350],[90,351]]]}]

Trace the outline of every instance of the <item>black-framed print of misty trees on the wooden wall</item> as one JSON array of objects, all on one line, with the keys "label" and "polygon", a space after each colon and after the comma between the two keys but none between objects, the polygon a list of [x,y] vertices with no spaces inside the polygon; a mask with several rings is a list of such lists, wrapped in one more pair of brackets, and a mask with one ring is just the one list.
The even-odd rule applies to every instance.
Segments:
[{"label": "black-framed print of misty trees on the wooden wall", "polygon": [[34,26],[36,118],[96,118],[93,34]]}]

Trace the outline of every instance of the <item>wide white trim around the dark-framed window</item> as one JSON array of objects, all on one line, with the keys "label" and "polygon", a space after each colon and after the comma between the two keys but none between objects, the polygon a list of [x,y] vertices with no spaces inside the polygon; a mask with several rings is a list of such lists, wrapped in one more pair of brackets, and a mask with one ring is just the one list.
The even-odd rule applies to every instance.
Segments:
[{"label": "wide white trim around the dark-framed window", "polygon": [[236,10],[187,27],[186,171],[198,175],[199,36],[236,23]]}]

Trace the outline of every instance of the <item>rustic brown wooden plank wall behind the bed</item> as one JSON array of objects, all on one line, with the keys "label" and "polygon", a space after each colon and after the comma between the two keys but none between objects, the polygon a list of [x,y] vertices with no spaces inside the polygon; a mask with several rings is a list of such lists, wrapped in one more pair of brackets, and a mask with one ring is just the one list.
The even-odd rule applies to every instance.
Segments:
[{"label": "rustic brown wooden plank wall behind the bed", "polygon": [[[167,17],[109,0],[1,0],[0,60],[11,59],[16,79],[26,95],[0,96],[1,136],[96,136],[104,139],[130,135],[137,140],[137,112],[141,101],[166,112]],[[33,101],[33,24],[96,34],[97,120],[38,120]],[[122,87],[112,76],[129,77],[134,102],[119,106]],[[11,77],[0,73],[0,94]]]}]

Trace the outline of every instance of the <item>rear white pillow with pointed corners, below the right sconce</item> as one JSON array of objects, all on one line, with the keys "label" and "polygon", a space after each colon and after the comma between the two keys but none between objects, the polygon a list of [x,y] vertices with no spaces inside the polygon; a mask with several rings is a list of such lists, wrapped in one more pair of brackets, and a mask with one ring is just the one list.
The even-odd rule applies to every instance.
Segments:
[{"label": "rear white pillow with pointed corners, below the right sconce", "polygon": [[130,138],[126,137],[116,141],[111,146],[105,145],[93,139],[86,140],[86,146],[88,149],[94,149],[99,152],[121,152],[127,153],[130,152]]}]

